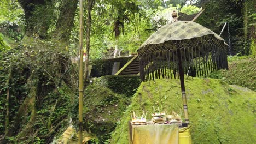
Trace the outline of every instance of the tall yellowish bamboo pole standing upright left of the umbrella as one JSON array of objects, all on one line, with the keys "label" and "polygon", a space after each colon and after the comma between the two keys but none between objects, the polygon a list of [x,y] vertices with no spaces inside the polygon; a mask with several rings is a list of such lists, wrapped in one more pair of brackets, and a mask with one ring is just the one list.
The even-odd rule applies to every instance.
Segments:
[{"label": "tall yellowish bamboo pole standing upright left of the umbrella", "polygon": [[84,21],[83,21],[83,0],[79,0],[79,21],[80,21],[80,32],[79,32],[79,49],[80,49],[80,57],[79,57],[79,109],[78,109],[78,120],[79,120],[79,131],[78,131],[78,143],[83,143],[83,34],[84,34]]}]

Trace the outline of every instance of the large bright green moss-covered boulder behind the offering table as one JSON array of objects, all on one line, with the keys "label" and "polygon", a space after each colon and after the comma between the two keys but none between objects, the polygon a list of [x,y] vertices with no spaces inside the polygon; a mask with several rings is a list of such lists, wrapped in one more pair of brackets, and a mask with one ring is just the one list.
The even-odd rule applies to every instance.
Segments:
[{"label": "large bright green moss-covered boulder behind the offering table", "polygon": [[[216,79],[185,80],[185,86],[193,143],[256,141],[255,92]],[[127,122],[131,110],[152,110],[152,106],[158,105],[165,106],[168,112],[182,109],[179,81],[158,79],[142,82],[110,143],[129,143]]]}]

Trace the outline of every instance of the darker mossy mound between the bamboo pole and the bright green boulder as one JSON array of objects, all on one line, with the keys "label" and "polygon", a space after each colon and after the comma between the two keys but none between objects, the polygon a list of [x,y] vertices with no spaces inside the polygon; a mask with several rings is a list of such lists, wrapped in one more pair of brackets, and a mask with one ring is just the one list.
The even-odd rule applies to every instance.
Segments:
[{"label": "darker mossy mound between the bamboo pole and the bright green boulder", "polygon": [[130,104],[130,98],[100,85],[89,85],[85,89],[84,104],[84,128],[104,143]]}]

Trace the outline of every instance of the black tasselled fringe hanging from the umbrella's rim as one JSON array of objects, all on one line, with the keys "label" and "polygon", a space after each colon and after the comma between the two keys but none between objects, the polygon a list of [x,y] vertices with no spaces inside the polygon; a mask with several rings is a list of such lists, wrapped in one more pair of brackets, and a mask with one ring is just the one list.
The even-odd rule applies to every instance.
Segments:
[{"label": "black tasselled fringe hanging from the umbrella's rim", "polygon": [[[139,53],[140,75],[142,81],[160,78],[179,79],[178,49],[181,52],[181,61],[184,75],[187,79],[205,77],[207,74],[219,69],[228,69],[226,49],[219,49],[221,45],[201,42],[173,43],[169,49],[161,45],[155,47],[158,51]],[[178,47],[178,48],[176,48]],[[152,50],[153,48],[150,48]]]}]

